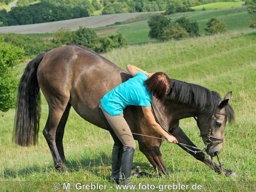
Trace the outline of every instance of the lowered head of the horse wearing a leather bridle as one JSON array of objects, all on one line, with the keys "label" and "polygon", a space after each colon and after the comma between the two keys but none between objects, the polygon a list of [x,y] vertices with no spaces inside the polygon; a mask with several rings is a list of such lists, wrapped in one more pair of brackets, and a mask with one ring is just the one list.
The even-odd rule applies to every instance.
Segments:
[{"label": "lowered head of the horse wearing a leather bridle", "polygon": [[232,92],[227,93],[223,100],[218,101],[215,111],[201,113],[198,115],[197,124],[201,132],[201,137],[207,145],[205,150],[211,157],[220,153],[224,141],[224,130],[227,118],[233,120],[233,110],[228,105]]}]

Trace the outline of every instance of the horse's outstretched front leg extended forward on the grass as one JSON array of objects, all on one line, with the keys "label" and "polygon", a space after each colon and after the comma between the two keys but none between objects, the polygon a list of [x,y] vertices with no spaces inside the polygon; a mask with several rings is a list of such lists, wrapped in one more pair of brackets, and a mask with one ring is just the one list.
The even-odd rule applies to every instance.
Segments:
[{"label": "horse's outstretched front leg extended forward on the grass", "polygon": [[[194,143],[192,143],[192,141],[186,136],[186,134],[182,131],[182,129],[180,127],[177,128],[172,128],[169,131],[170,134],[172,134],[174,137],[176,137],[176,139],[183,144],[186,145],[191,145],[196,147],[196,145],[194,145]],[[221,173],[223,172],[225,175],[227,176],[233,176],[233,177],[237,177],[237,174],[229,169],[225,169],[223,167],[220,167],[218,164],[214,163],[212,160],[210,160],[203,152],[199,152],[199,153],[194,153],[192,151],[195,151],[196,149],[193,149],[191,147],[187,147],[189,149],[191,149],[192,151],[189,151],[187,148],[185,148],[184,146],[179,145],[181,148],[183,148],[185,151],[187,151],[189,154],[193,155],[197,160],[202,161],[204,164],[206,164],[207,166],[209,166],[211,169],[213,169],[216,173]],[[198,151],[198,150],[196,150]]]}]

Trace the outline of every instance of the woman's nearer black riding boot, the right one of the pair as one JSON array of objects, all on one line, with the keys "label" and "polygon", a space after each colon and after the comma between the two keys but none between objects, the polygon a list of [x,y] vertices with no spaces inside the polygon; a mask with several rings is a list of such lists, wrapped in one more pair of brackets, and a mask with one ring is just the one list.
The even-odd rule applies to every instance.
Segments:
[{"label": "woman's nearer black riding boot, the right one of the pair", "polygon": [[121,183],[124,185],[129,185],[131,183],[131,166],[134,157],[134,148],[125,147],[122,154],[122,166],[121,166]]}]

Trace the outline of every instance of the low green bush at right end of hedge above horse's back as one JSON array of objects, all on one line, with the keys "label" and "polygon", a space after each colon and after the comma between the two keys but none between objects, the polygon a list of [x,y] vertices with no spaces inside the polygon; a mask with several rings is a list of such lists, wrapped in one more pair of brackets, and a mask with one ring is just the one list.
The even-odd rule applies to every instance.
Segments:
[{"label": "low green bush at right end of hedge above horse's back", "polygon": [[126,39],[122,33],[118,33],[93,39],[89,48],[100,53],[110,51],[114,48],[124,47],[125,45],[127,45]]}]

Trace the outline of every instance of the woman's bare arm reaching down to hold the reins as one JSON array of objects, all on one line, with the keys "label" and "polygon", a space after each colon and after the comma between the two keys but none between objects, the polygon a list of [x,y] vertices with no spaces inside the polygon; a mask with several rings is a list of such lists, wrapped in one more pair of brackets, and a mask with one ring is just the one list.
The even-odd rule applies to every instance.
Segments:
[{"label": "woman's bare arm reaching down to hold the reins", "polygon": [[170,143],[178,143],[177,139],[173,137],[172,135],[169,135],[166,131],[163,130],[163,128],[156,122],[154,115],[151,111],[151,107],[142,106],[143,113],[145,117],[148,119],[148,122],[150,122],[151,127],[154,128],[157,133],[162,135],[166,138]]}]

